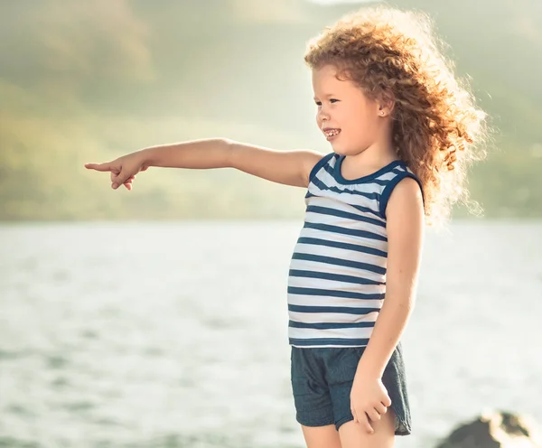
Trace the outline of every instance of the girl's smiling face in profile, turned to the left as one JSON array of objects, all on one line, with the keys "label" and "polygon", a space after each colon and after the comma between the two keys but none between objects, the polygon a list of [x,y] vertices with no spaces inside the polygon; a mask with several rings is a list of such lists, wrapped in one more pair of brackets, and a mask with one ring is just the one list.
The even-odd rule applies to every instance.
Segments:
[{"label": "girl's smiling face in profile, turned to the left", "polygon": [[337,79],[336,74],[331,65],[313,70],[316,123],[333,152],[360,154],[377,140],[384,120],[379,118],[377,101],[369,99],[352,81]]}]

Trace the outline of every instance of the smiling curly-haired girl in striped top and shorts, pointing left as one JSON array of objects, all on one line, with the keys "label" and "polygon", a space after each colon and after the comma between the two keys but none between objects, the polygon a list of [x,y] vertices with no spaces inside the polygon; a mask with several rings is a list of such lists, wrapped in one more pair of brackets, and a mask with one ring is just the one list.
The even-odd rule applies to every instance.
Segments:
[{"label": "smiling curly-haired girl in striped top and shorts, pointing left", "polygon": [[466,199],[484,115],[420,14],[342,18],[308,45],[316,123],[332,153],[213,138],[109,163],[131,190],[149,166],[233,167],[307,188],[288,279],[296,419],[308,448],[386,448],[411,432],[400,338],[412,312],[425,219]]}]

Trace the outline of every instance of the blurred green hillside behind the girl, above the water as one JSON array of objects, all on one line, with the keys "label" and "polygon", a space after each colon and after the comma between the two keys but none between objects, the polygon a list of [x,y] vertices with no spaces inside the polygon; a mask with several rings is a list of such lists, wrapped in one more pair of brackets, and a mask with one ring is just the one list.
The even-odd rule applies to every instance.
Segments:
[{"label": "blurred green hillside behind the girl, above the water", "polygon": [[[498,128],[470,176],[490,217],[542,216],[542,3],[401,0],[433,15]],[[303,0],[28,0],[0,4],[0,219],[301,216],[301,189],[229,170],[149,170],[111,191],[84,162],[228,136],[328,144],[305,42],[356,5]],[[464,214],[464,210],[458,210]]]}]

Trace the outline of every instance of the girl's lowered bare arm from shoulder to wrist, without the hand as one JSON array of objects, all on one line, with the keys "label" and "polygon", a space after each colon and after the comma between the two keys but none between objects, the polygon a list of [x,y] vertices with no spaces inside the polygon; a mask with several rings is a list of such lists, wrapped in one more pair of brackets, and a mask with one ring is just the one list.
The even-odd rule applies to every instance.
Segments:
[{"label": "girl's lowered bare arm from shoulder to wrist, without the hand", "polygon": [[397,183],[386,219],[386,298],[358,365],[364,377],[382,378],[414,308],[425,221],[422,192],[414,179],[406,177]]}]

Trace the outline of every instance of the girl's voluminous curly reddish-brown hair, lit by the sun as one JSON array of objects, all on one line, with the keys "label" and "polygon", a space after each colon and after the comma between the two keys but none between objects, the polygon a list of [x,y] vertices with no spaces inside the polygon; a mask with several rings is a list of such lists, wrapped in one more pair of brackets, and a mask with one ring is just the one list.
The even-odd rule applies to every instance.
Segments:
[{"label": "girl's voluminous curly reddish-brown hair, lit by the sun", "polygon": [[428,224],[442,224],[458,201],[480,210],[466,172],[487,136],[485,113],[440,47],[426,14],[376,6],[326,27],[304,55],[311,69],[332,65],[369,98],[393,101],[394,149],[422,183]]}]

